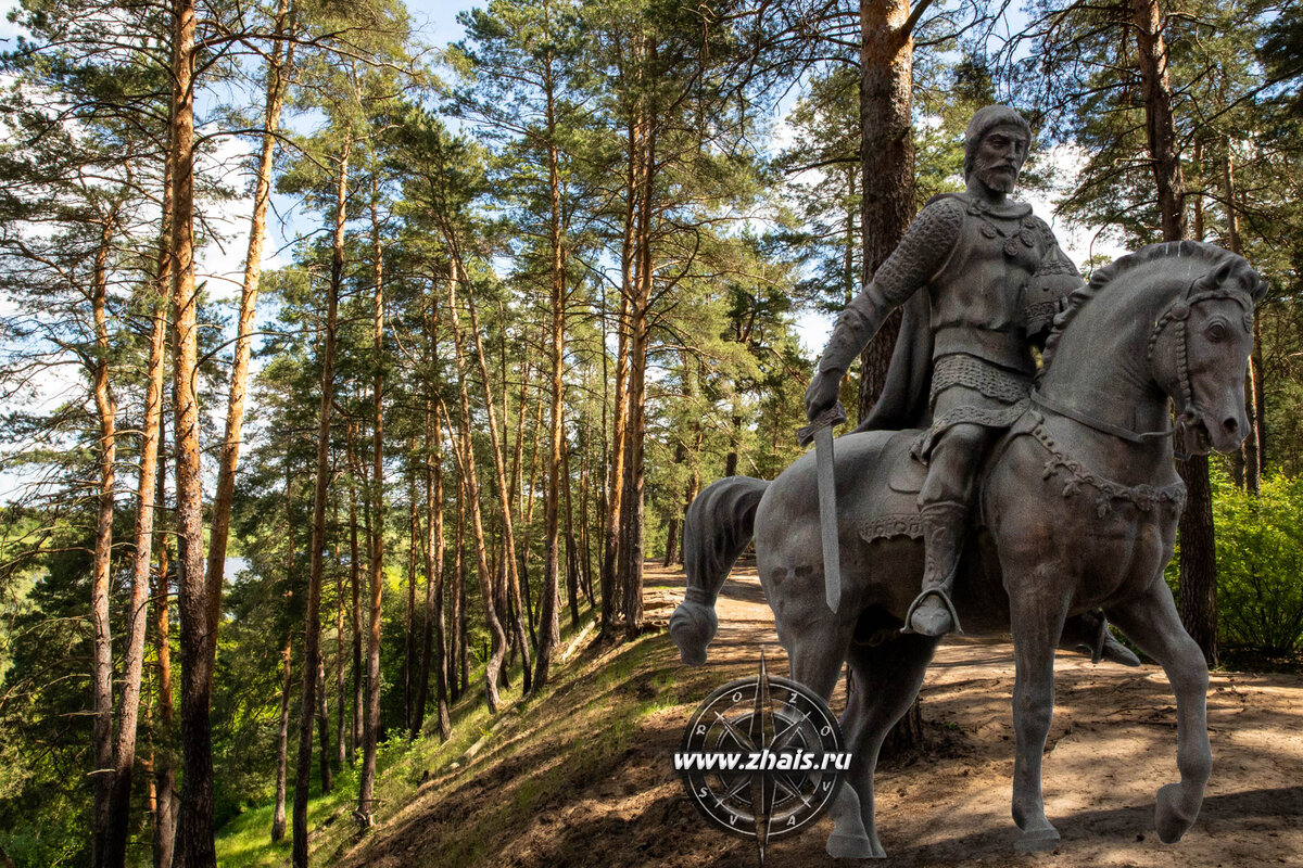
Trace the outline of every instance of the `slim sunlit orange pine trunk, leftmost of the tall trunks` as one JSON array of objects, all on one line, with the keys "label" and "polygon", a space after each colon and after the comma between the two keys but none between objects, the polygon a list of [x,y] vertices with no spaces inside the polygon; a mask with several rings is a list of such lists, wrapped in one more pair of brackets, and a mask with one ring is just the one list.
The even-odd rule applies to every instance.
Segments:
[{"label": "slim sunlit orange pine trunk, leftmost of the tall trunks", "polygon": [[[95,558],[91,573],[91,627],[95,636],[91,666],[95,711],[95,833],[94,860],[108,864],[108,808],[113,794],[113,645],[108,627],[108,582],[113,554],[113,488],[117,467],[117,402],[108,388],[108,247],[113,219],[100,229],[91,276],[91,315],[95,321],[95,359],[91,367],[95,413],[99,416],[99,493],[95,521]],[[137,674],[137,683],[139,675]],[[134,740],[134,735],[133,735]],[[126,817],[124,816],[125,821]],[[125,835],[125,830],[124,830]],[[125,843],[124,843],[125,847]]]}]

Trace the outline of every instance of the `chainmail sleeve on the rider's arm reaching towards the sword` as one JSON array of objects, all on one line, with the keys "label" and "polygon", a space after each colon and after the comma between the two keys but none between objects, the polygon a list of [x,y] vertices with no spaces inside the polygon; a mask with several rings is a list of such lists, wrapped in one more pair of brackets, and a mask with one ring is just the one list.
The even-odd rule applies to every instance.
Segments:
[{"label": "chainmail sleeve on the rider's arm reaching towards the sword", "polygon": [[820,371],[842,371],[868,346],[895,307],[903,305],[946,263],[964,221],[963,206],[952,198],[925,207],[873,280],[837,318],[833,337],[820,357]]}]

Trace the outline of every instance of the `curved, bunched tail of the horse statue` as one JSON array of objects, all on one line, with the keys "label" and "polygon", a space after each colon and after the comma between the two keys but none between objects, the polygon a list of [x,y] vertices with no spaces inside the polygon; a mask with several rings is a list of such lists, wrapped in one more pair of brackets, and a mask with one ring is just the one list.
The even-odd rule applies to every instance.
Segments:
[{"label": "curved, bunched tail of the horse statue", "polygon": [[711,483],[688,508],[683,523],[683,565],[688,592],[670,617],[670,636],[683,662],[706,662],[706,645],[715,636],[715,597],[756,531],[756,506],[769,483],[751,476],[726,476]]}]

